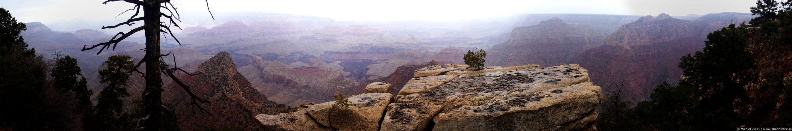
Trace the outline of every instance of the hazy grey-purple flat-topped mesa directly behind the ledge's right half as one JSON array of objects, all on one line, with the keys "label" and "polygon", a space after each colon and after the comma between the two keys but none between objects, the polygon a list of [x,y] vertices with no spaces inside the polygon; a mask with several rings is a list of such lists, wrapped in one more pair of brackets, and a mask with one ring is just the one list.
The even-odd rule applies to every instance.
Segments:
[{"label": "hazy grey-purple flat-topped mesa directly behind the ledge's right half", "polygon": [[567,24],[558,17],[539,25],[518,27],[504,44],[487,51],[487,64],[516,66],[541,64],[556,66],[576,60],[585,49],[603,44],[617,26]]}]

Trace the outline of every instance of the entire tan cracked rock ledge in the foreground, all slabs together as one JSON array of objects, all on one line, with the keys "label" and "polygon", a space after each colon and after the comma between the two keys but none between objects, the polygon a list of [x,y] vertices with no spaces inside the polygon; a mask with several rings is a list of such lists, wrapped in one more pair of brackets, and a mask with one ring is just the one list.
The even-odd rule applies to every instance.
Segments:
[{"label": "entire tan cracked rock ledge in the foreground, all slabs together", "polygon": [[326,130],[329,123],[341,130],[596,130],[603,93],[577,64],[478,71],[446,64],[415,76],[396,96],[390,84],[372,83],[329,121],[324,112],[334,101],[256,118],[269,130]]}]

